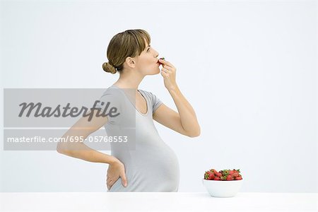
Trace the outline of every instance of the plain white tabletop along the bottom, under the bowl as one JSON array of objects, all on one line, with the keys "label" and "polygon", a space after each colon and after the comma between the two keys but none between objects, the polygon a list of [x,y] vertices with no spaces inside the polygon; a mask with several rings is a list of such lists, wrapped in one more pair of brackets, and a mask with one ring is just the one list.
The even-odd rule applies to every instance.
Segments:
[{"label": "plain white tabletop along the bottom, under the bowl", "polygon": [[317,193],[0,193],[0,211],[317,211]]}]

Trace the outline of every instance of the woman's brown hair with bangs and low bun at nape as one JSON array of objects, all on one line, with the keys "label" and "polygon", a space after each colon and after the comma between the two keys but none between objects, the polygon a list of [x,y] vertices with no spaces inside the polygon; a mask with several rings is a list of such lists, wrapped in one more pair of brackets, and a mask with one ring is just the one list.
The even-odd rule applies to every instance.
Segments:
[{"label": "woman's brown hair with bangs and low bun at nape", "polygon": [[146,48],[146,41],[151,43],[151,37],[146,30],[126,30],[112,37],[107,47],[108,62],[102,64],[106,72],[116,73],[124,69],[126,57],[136,57]]}]

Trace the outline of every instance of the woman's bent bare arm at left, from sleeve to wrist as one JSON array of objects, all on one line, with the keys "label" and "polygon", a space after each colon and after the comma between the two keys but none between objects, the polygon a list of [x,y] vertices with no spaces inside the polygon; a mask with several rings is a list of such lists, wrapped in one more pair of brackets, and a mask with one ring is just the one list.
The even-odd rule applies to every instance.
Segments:
[{"label": "woman's bent bare arm at left, from sleeve to wrist", "polygon": [[[94,110],[93,119],[88,121],[88,117],[82,117],[62,136],[66,141],[67,136],[76,136],[83,141],[94,131],[100,129],[107,123],[107,117],[96,117],[98,110]],[[117,163],[119,160],[112,155],[107,155],[86,146],[83,142],[59,142],[57,152],[69,155],[73,158],[80,158],[94,163]]]}]

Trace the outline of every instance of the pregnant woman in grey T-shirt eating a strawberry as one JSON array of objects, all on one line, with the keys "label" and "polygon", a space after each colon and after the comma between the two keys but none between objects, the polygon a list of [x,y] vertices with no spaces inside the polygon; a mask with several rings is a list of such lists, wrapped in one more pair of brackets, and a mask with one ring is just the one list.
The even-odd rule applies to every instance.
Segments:
[{"label": "pregnant woman in grey T-shirt eating a strawberry", "polygon": [[[78,142],[59,143],[57,146],[57,151],[65,155],[95,163],[108,163],[107,192],[178,191],[177,156],[160,138],[153,119],[185,136],[200,134],[196,114],[175,81],[175,66],[167,60],[158,60],[158,52],[150,44],[151,37],[146,30],[126,30],[112,37],[107,47],[108,62],[102,64],[102,69],[110,73],[118,72],[119,79],[107,88],[100,102],[115,105],[119,115],[94,117],[90,122],[83,117],[64,134],[64,137],[86,138],[105,126],[108,136],[126,135],[131,128],[125,126],[133,120],[134,146],[127,148],[111,143],[111,155]],[[153,93],[139,89],[145,76],[158,73],[163,77],[165,88],[178,112],[163,104]],[[102,105],[98,107],[103,108]],[[83,129],[81,133],[76,131],[78,128]]]}]

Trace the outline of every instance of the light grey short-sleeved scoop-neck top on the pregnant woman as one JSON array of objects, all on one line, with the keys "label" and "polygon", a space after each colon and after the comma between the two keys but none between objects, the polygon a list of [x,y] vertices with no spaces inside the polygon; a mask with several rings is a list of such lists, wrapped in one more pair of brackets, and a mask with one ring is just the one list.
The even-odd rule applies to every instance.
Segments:
[{"label": "light grey short-sleeved scoop-neck top on the pregnant woman", "polygon": [[[124,89],[110,86],[103,93],[100,100],[110,101],[120,107],[122,112],[131,112],[136,117],[135,149],[127,150],[124,147],[111,146],[111,155],[118,158],[125,166],[127,187],[122,185],[119,177],[107,192],[177,192],[179,188],[179,162],[175,152],[160,138],[153,123],[153,112],[163,103],[153,93],[140,90],[139,93],[147,102],[147,112],[139,112],[126,95]],[[100,105],[98,107],[101,107]],[[101,107],[102,108],[102,107]],[[105,124],[108,136],[119,132],[125,134],[125,128],[121,125],[131,121],[131,114],[120,114],[117,117],[109,117]],[[126,120],[127,119],[127,120]]]}]

